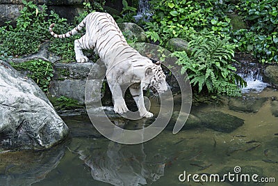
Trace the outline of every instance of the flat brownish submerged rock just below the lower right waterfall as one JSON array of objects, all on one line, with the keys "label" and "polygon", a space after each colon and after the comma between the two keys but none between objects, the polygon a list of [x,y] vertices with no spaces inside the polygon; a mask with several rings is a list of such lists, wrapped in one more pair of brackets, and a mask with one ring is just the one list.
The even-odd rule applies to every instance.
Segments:
[{"label": "flat brownish submerged rock just below the lower right waterfall", "polygon": [[229,109],[234,111],[256,113],[266,100],[267,98],[230,98],[228,105]]}]

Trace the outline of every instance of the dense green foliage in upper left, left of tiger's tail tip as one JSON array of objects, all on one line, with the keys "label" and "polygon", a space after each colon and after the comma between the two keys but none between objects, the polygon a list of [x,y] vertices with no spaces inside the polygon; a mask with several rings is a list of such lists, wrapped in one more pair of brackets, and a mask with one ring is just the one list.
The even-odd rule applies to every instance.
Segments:
[{"label": "dense green foliage in upper left, left of tiger's tail tip", "polygon": [[[48,31],[52,22],[64,24],[65,19],[59,18],[54,11],[47,14],[47,6],[37,6],[32,1],[22,1],[24,8],[17,18],[17,26],[0,28],[0,55],[20,56],[38,52],[40,44],[50,38]],[[47,19],[48,18],[48,19]]]}]

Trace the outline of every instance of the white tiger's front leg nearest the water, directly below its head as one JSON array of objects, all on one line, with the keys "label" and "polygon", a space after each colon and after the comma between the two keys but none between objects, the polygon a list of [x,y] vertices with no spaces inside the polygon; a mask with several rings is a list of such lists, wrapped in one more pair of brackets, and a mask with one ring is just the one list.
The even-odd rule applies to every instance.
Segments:
[{"label": "white tiger's front leg nearest the water, directly below its head", "polygon": [[147,111],[144,103],[143,91],[140,85],[131,85],[129,91],[133,96],[133,100],[136,102],[138,111],[141,117],[152,118],[154,114]]}]

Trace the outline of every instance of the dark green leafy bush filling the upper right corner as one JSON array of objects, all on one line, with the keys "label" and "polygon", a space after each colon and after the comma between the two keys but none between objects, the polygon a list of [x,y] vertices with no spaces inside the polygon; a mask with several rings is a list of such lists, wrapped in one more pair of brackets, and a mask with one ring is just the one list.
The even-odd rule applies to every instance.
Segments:
[{"label": "dark green leafy bush filling the upper right corner", "polygon": [[247,0],[238,5],[247,30],[234,32],[234,42],[241,52],[251,52],[262,63],[278,62],[278,0]]}]

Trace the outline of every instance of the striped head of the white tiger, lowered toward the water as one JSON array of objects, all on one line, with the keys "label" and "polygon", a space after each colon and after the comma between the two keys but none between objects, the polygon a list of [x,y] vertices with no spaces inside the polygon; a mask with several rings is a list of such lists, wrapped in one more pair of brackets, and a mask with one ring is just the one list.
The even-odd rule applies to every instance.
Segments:
[{"label": "striped head of the white tiger, lowered toward the water", "polygon": [[145,77],[142,79],[142,89],[155,89],[158,93],[167,91],[166,76],[161,68],[161,63],[158,61],[145,68]]}]

